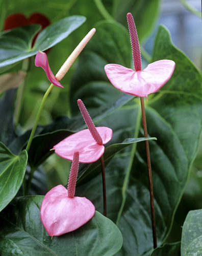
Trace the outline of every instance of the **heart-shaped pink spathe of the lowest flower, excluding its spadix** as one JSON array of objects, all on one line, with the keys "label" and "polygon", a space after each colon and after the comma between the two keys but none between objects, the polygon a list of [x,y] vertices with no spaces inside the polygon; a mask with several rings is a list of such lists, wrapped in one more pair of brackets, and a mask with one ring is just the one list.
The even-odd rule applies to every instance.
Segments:
[{"label": "heart-shaped pink spathe of the lowest flower, excluding its spadix", "polygon": [[87,223],[95,214],[94,205],[85,197],[67,196],[67,189],[58,185],[44,197],[40,216],[48,234],[61,236]]}]

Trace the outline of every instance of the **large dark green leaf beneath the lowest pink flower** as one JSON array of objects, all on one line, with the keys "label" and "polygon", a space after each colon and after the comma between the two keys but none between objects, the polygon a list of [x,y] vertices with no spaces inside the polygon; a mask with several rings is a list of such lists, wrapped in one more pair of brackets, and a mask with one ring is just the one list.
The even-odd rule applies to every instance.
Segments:
[{"label": "large dark green leaf beneath the lowest pink flower", "polygon": [[122,245],[116,225],[99,212],[79,229],[53,237],[40,219],[43,196],[15,198],[1,213],[0,253],[2,256],[30,255],[114,255]]}]

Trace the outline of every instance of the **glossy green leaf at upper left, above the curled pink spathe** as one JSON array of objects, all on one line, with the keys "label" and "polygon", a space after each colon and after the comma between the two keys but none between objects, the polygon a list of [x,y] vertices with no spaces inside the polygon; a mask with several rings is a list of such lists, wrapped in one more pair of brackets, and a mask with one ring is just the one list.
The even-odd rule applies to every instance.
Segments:
[{"label": "glossy green leaf at upper left, above the curled pink spathe", "polygon": [[31,48],[32,39],[40,28],[37,24],[18,27],[1,33],[0,72],[4,71],[6,66],[36,55],[39,50],[44,51],[55,46],[72,31],[80,27],[85,20],[85,17],[79,15],[59,20],[59,22],[46,27],[39,33],[33,48]]}]

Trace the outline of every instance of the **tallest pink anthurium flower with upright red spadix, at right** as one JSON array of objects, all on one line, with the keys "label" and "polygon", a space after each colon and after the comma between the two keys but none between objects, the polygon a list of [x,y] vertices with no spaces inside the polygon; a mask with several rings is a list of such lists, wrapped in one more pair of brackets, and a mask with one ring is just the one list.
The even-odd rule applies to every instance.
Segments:
[{"label": "tallest pink anthurium flower with upright red spadix, at right", "polygon": [[168,59],[158,60],[141,70],[137,30],[131,13],[127,14],[127,18],[135,70],[116,64],[108,64],[105,66],[105,72],[113,86],[121,92],[147,98],[148,94],[157,92],[170,79],[175,63]]}]

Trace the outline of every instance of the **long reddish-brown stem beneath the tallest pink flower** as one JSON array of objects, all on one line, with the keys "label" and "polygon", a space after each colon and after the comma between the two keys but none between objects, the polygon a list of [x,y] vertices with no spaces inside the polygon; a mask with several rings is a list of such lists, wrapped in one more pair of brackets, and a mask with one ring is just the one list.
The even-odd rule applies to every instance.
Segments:
[{"label": "long reddish-brown stem beneath the tallest pink flower", "polygon": [[[142,122],[143,122],[144,137],[148,138],[147,127],[146,127],[146,115],[145,115],[145,109],[144,109],[144,97],[140,97],[140,102],[141,102],[141,109],[142,109]],[[145,140],[145,147],[146,147],[146,160],[147,160],[147,168],[148,168],[150,206],[151,206],[151,212],[152,212],[153,243],[154,243],[154,249],[155,249],[155,248],[157,248],[157,233],[156,233],[154,193],[153,193],[153,182],[152,182],[152,167],[151,167],[151,162],[150,162],[148,140]]]}]

